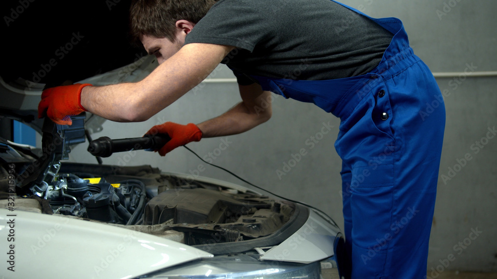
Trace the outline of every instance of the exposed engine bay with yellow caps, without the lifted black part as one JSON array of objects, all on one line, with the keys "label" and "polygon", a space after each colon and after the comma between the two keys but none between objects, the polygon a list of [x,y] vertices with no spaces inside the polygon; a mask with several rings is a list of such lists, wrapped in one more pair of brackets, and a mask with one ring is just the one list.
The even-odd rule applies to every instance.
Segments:
[{"label": "exposed engine bay with yellow caps, without the lifted black part", "polygon": [[61,170],[79,168],[94,172],[60,173],[39,193],[53,214],[115,224],[188,245],[267,236],[295,211],[287,201],[188,180],[150,166],[120,167],[114,174],[109,172],[115,166],[67,163]]}]

